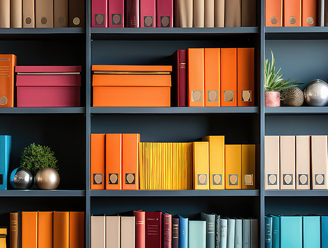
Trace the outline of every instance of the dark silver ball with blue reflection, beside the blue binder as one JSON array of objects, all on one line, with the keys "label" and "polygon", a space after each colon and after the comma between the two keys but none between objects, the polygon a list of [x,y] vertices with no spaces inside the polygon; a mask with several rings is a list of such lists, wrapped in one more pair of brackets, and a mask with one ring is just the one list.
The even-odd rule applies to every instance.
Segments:
[{"label": "dark silver ball with blue reflection, beside the blue binder", "polygon": [[11,186],[17,189],[28,189],[34,184],[32,173],[20,167],[11,172],[9,181]]}]

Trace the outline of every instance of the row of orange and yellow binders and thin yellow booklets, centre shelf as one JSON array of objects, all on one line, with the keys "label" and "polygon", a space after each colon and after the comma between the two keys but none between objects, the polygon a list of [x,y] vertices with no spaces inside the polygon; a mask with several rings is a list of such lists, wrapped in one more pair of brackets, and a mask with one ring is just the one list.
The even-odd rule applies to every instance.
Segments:
[{"label": "row of orange and yellow binders and thin yellow booklets, centre shelf", "polygon": [[140,142],[140,134],[91,134],[91,189],[254,189],[255,145]]}]

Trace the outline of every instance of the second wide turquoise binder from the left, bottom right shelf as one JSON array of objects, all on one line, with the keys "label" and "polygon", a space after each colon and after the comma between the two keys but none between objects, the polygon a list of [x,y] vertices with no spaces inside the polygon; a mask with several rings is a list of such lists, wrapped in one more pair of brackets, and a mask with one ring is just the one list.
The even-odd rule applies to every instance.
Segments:
[{"label": "second wide turquoise binder from the left, bottom right shelf", "polygon": [[320,216],[303,216],[303,248],[320,248]]}]

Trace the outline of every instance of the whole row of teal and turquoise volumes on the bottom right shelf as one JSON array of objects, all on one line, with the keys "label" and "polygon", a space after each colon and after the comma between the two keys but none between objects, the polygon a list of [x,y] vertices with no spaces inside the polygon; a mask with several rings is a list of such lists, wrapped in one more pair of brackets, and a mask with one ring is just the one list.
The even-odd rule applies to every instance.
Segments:
[{"label": "whole row of teal and turquoise volumes on the bottom right shelf", "polygon": [[328,246],[328,216],[265,215],[265,248]]}]

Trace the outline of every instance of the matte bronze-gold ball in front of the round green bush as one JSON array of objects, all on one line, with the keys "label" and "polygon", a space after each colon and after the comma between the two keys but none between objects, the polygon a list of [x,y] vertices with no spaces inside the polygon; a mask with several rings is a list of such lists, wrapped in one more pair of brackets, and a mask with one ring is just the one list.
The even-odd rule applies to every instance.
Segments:
[{"label": "matte bronze-gold ball in front of the round green bush", "polygon": [[35,175],[35,183],[41,189],[55,189],[58,187],[60,177],[58,172],[53,168],[43,168]]}]

